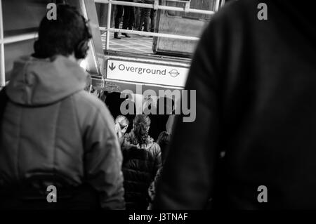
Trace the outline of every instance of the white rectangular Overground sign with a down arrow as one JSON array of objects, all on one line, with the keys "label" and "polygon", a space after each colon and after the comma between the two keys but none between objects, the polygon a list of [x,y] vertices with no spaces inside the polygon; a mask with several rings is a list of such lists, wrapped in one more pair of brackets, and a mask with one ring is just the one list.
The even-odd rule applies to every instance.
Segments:
[{"label": "white rectangular Overground sign with a down arrow", "polygon": [[107,60],[107,79],[185,87],[188,72],[187,67]]}]

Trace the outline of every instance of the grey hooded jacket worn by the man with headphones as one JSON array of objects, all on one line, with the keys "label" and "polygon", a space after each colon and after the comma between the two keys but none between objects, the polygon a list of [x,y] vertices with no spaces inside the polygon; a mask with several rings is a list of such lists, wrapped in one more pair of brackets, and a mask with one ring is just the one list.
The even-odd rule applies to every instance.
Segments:
[{"label": "grey hooded jacket worn by the man with headphones", "polygon": [[105,104],[84,91],[86,77],[63,56],[15,62],[0,126],[0,191],[36,177],[40,185],[55,183],[58,176],[65,183],[59,190],[90,185],[104,209],[124,209],[114,121]]}]

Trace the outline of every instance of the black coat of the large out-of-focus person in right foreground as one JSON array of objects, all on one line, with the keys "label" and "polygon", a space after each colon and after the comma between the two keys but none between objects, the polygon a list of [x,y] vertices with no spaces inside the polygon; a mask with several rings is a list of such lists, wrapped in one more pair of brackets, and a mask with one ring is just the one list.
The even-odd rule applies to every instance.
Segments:
[{"label": "black coat of the large out-of-focus person in right foreground", "polygon": [[268,0],[259,20],[261,2],[232,1],[204,32],[186,86],[196,120],[178,119],[156,208],[316,209],[315,13]]}]

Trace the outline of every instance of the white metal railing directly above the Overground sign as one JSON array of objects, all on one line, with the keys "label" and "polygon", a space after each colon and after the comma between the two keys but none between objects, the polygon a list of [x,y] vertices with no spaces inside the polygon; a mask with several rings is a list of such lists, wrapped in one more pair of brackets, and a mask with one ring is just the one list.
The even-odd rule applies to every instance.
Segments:
[{"label": "white metal railing directly above the Overground sign", "polygon": [[[119,6],[134,6],[140,8],[153,8],[155,10],[166,10],[166,11],[179,11],[185,13],[199,13],[204,15],[213,15],[215,11],[206,11],[200,9],[190,8],[190,1],[183,1],[185,2],[185,7],[175,7],[175,6],[162,6],[159,5],[158,0],[154,0],[154,4],[143,4],[143,3],[136,3],[130,1],[114,1],[114,0],[95,0],[96,3],[100,4],[108,4],[107,6],[107,27],[100,27],[100,30],[106,31],[106,42],[105,42],[105,50],[108,51],[110,49],[110,32],[124,32],[127,34],[140,34],[145,36],[152,36],[152,37],[164,37],[164,38],[171,38],[171,39],[184,39],[190,41],[198,41],[199,37],[188,37],[185,35],[175,35],[175,34],[159,34],[155,32],[143,32],[143,31],[136,31],[131,29],[116,29],[111,28],[111,13],[112,13],[112,5],[119,5]],[[216,11],[219,8],[220,0],[216,0]],[[109,28],[110,27],[110,28]]]}]

